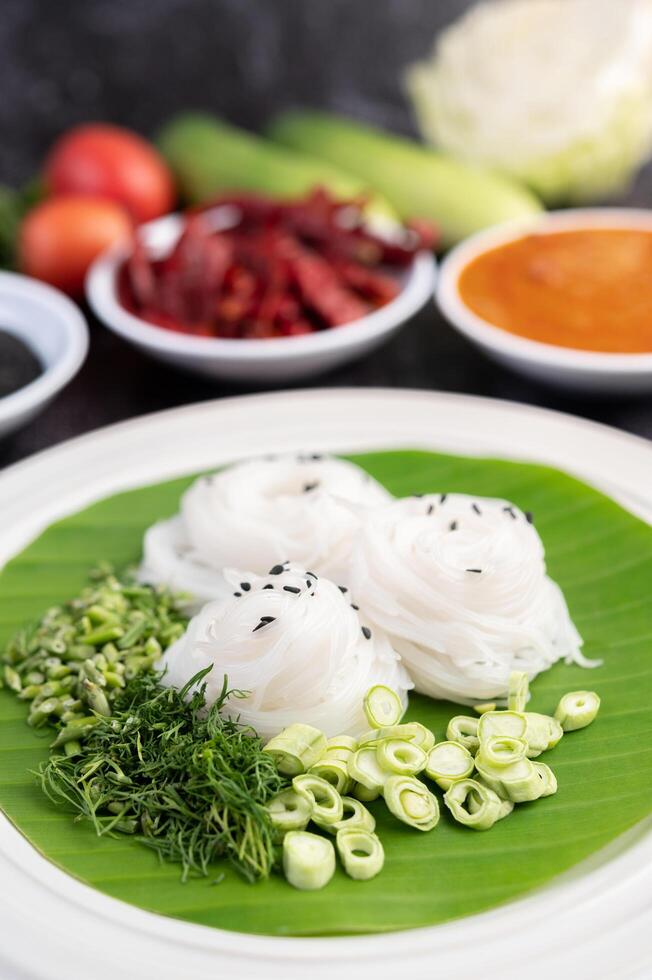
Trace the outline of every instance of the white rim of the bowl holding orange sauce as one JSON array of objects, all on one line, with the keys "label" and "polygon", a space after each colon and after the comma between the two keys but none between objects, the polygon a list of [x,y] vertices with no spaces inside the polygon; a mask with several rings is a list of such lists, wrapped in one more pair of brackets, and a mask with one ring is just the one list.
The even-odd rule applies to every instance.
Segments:
[{"label": "white rim of the bowl holding orange sauce", "polygon": [[478,316],[466,305],[459,291],[464,268],[484,252],[499,248],[528,234],[550,234],[587,228],[645,229],[652,231],[652,210],[642,208],[570,208],[509,221],[471,235],[453,248],[441,263],[435,298],[446,319],[469,340],[509,357],[538,361],[591,374],[646,375],[652,371],[650,354],[609,354],[600,351],[559,347],[529,340],[503,330]]}]

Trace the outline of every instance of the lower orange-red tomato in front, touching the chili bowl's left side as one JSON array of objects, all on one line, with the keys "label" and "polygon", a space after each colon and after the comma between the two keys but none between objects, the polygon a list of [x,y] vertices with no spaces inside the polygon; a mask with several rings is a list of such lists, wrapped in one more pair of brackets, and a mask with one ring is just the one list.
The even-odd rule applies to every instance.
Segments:
[{"label": "lower orange-red tomato in front, touching the chili bowl's left side", "polygon": [[132,231],[129,215],[112,201],[82,194],[52,197],[24,219],[18,235],[18,264],[27,275],[79,296],[96,255],[128,240]]}]

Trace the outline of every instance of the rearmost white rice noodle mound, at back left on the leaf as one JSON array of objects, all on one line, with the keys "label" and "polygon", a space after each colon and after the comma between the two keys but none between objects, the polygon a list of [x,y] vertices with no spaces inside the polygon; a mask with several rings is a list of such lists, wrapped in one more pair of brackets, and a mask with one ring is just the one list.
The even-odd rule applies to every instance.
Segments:
[{"label": "rearmost white rice noodle mound, at back left on the leaf", "polygon": [[141,575],[195,597],[227,595],[225,568],[265,574],[286,559],[348,580],[361,515],[391,495],[364,470],[317,454],[238,463],[196,480],[181,512],[145,534]]}]

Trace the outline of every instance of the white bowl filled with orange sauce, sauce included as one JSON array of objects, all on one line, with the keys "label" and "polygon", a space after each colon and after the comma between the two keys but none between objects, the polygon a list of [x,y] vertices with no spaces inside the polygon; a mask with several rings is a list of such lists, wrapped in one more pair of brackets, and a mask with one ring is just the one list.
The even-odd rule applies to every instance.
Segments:
[{"label": "white bowl filled with orange sauce, sauce included", "polygon": [[652,211],[582,208],[466,239],[444,316],[493,360],[578,392],[652,391]]}]

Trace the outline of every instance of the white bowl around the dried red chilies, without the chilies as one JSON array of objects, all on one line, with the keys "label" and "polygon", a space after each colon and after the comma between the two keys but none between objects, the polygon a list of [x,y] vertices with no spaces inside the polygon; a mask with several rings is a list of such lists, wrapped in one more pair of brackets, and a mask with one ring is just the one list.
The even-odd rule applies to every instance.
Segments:
[{"label": "white bowl around the dried red chilies, without the chilies", "polygon": [[[181,217],[169,215],[140,231],[148,248],[164,254],[173,246],[181,227]],[[430,252],[420,252],[404,274],[396,299],[354,323],[302,337],[225,340],[164,330],[129,313],[118,302],[116,292],[116,273],[124,257],[124,249],[111,249],[91,266],[86,295],[94,313],[110,330],[152,357],[232,381],[292,381],[367,354],[385,343],[430,299],[436,276],[434,257]]]}]

